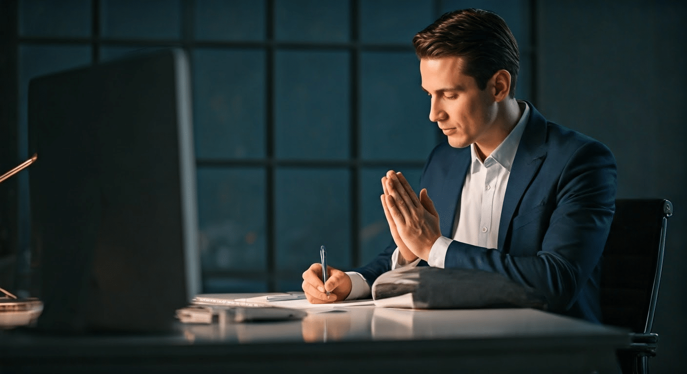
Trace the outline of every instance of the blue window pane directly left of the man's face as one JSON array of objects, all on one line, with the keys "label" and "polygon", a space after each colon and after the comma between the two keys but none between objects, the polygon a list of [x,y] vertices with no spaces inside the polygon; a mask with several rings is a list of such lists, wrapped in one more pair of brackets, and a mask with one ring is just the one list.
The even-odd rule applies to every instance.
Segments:
[{"label": "blue window pane directly left of the man's face", "polygon": [[426,159],[437,143],[436,124],[415,54],[366,52],[361,60],[363,159]]}]

